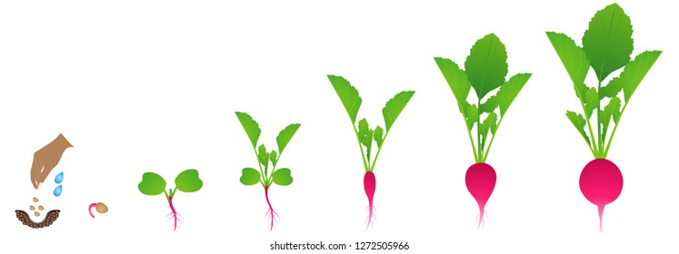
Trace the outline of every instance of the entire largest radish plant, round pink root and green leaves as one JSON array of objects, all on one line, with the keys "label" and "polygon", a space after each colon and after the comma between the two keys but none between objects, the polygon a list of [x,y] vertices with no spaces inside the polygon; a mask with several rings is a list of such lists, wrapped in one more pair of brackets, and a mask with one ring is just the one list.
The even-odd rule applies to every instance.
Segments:
[{"label": "entire largest radish plant, round pink root and green leaves", "polygon": [[[632,60],[632,23],[630,17],[616,4],[608,5],[594,15],[589,22],[589,29],[584,31],[582,47],[565,34],[547,32],[547,37],[571,77],[575,95],[583,107],[584,116],[572,111],[567,111],[566,116],[594,154],[594,161],[587,163],[580,174],[580,190],[587,200],[598,207],[601,231],[604,229],[604,206],[617,199],[623,191],[623,174],[613,161],[606,160],[611,141],[632,94],[661,52],[646,51],[637,54]],[[584,83],[590,67],[596,74],[596,87]],[[624,70],[619,76],[602,86],[609,74],[621,68]],[[624,91],[624,104],[618,97],[620,91]],[[596,117],[592,121],[594,112]],[[608,132],[613,124],[613,132]]]}]

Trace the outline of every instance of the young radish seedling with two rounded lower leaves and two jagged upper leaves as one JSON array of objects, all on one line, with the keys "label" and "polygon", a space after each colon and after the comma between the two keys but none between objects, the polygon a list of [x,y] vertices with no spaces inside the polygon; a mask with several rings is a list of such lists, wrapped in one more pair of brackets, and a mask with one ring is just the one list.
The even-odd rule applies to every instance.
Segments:
[{"label": "young radish seedling with two rounded lower leaves and two jagged upper leaves", "polygon": [[[259,171],[253,168],[243,169],[241,175],[241,183],[245,185],[255,185],[257,182],[262,184],[265,189],[266,204],[269,206],[269,210],[266,211],[266,217],[271,220],[269,231],[274,230],[274,223],[278,214],[275,212],[274,208],[271,206],[269,201],[269,188],[272,183],[287,186],[293,183],[293,177],[290,175],[290,169],[280,168],[276,169],[278,161],[283,155],[285,146],[290,139],[293,138],[297,129],[302,124],[293,123],[285,127],[283,131],[278,133],[278,137],[275,138],[276,143],[278,143],[278,151],[266,151],[264,144],[257,147],[257,141],[259,140],[259,134],[262,130],[259,129],[259,124],[245,112],[235,112],[238,117],[238,121],[243,125],[247,137],[253,145],[253,151],[255,151],[255,156],[257,158],[257,166],[259,166]],[[271,162],[271,167],[269,167],[269,162]]]}]

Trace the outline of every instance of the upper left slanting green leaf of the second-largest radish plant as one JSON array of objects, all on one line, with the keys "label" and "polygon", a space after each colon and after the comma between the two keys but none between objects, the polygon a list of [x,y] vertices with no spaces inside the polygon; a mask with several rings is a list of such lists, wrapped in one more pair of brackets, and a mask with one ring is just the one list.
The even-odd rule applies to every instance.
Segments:
[{"label": "upper left slanting green leaf of the second-largest radish plant", "polygon": [[[434,61],[441,69],[441,73],[444,74],[445,81],[450,86],[450,90],[453,91],[455,100],[460,107],[460,112],[466,111],[466,108],[462,108],[462,105],[466,103],[469,91],[472,88],[472,83],[469,83],[467,78],[467,73],[464,73],[457,64],[447,58],[435,57]],[[464,102],[464,103],[463,103]]]}]

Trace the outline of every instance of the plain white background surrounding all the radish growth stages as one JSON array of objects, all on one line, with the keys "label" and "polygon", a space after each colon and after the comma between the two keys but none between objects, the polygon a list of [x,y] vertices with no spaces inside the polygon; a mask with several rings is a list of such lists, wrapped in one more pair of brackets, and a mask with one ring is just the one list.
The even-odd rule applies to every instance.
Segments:
[{"label": "plain white background surrounding all the radish growth stages", "polygon": [[[0,252],[273,253],[275,240],[409,242],[410,250],[389,253],[677,251],[671,24],[679,21],[671,2],[620,2],[634,25],[634,55],[664,53],[615,135],[608,159],[624,190],[605,208],[604,233],[578,188],[593,156],[564,116],[580,106],[544,32],[580,44],[590,18],[612,2],[321,2],[0,4]],[[464,63],[489,33],[506,45],[510,75],[534,75],[488,157],[497,184],[477,230],[464,186],[474,157],[433,58]],[[371,124],[384,126],[381,109],[395,93],[416,91],[375,167],[377,221],[368,231],[363,164],[331,73],[358,89],[359,118]],[[280,161],[295,182],[270,191],[281,216],[273,232],[264,190],[238,181],[256,161],[235,111],[259,122],[269,148],[287,124],[302,123]],[[75,147],[34,190],[33,153],[58,133]],[[165,199],[136,186],[155,171],[174,187],[189,168],[205,186],[176,194],[185,223],[173,232]],[[64,194],[54,198],[59,171]],[[62,210],[53,226],[16,220],[14,210],[33,197]],[[92,219],[86,208],[97,201],[109,212]],[[364,251],[328,251],[351,252]]]}]

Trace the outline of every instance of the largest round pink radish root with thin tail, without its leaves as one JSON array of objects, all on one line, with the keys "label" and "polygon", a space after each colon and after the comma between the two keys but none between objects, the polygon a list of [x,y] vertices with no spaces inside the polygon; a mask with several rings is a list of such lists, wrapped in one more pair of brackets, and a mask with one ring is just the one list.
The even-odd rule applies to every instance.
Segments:
[{"label": "largest round pink radish root with thin tail, without its leaves", "polygon": [[599,231],[604,230],[604,207],[613,202],[623,191],[623,173],[606,159],[595,159],[584,166],[580,174],[580,190],[584,198],[599,210]]}]

